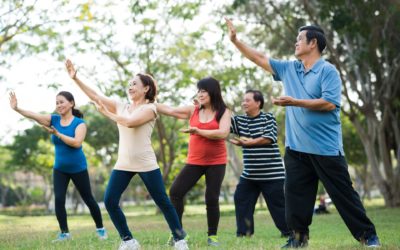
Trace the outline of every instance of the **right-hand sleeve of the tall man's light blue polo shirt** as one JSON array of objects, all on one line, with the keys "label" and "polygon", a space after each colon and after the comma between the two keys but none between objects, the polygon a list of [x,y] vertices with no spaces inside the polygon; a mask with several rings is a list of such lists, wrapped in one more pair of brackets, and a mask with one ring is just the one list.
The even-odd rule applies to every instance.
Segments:
[{"label": "right-hand sleeve of the tall man's light blue polo shirt", "polygon": [[328,68],[328,72],[322,79],[321,83],[322,95],[321,98],[325,101],[333,103],[340,108],[340,99],[342,95],[342,80],[339,73],[333,66]]}]

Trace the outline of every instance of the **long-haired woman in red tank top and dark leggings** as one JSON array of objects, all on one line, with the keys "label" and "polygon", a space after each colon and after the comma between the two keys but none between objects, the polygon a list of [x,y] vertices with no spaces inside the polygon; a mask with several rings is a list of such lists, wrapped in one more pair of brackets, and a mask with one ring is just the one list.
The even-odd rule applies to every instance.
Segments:
[{"label": "long-haired woman in red tank top and dark leggings", "polygon": [[[169,107],[156,104],[160,114],[178,119],[188,119],[190,133],[186,165],[172,183],[169,195],[182,223],[183,198],[186,193],[205,175],[208,222],[208,244],[217,246],[219,223],[219,194],[225,175],[226,146],[231,116],[221,95],[219,82],[207,77],[197,83],[199,105]],[[172,242],[173,243],[173,242]]]}]

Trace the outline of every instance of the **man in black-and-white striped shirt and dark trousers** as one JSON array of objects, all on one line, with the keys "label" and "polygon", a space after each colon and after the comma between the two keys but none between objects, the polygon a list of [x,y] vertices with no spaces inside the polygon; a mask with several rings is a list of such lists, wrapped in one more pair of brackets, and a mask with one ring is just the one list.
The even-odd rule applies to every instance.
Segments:
[{"label": "man in black-and-white striped shirt and dark trousers", "polygon": [[253,214],[262,193],[281,235],[289,236],[283,194],[285,169],[277,145],[275,117],[261,111],[264,97],[260,91],[246,91],[242,106],[246,115],[232,116],[231,133],[238,137],[230,140],[243,150],[243,172],[234,195],[236,235],[254,234]]}]

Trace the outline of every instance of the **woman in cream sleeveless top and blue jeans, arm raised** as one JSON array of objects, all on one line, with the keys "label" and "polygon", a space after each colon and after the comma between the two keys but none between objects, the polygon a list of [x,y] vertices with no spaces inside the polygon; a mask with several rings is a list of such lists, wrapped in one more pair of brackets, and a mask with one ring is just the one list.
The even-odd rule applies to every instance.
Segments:
[{"label": "woman in cream sleeveless top and blue jeans, arm raised", "polygon": [[157,94],[153,77],[137,74],[129,83],[128,96],[131,103],[116,102],[97,94],[77,76],[71,61],[66,62],[67,71],[82,91],[96,103],[98,110],[115,121],[119,131],[118,160],[111,173],[104,195],[104,204],[122,239],[120,250],[139,249],[133,238],[119,201],[131,179],[138,174],[154,202],[161,209],[174,237],[175,249],[188,249],[178,215],[167,193],[160,168],[151,146],[151,133],[157,111],[154,101]]}]

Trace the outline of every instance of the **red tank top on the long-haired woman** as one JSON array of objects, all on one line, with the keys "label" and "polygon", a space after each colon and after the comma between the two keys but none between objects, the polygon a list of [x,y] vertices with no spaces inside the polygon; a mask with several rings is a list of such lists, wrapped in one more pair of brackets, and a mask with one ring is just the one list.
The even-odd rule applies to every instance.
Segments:
[{"label": "red tank top on the long-haired woman", "polygon": [[[210,122],[202,123],[199,119],[199,107],[196,106],[189,124],[199,129],[218,129],[219,123],[214,117]],[[189,138],[188,158],[186,163],[193,165],[221,165],[226,164],[226,146],[224,139],[212,140],[206,137],[191,134]]]}]

